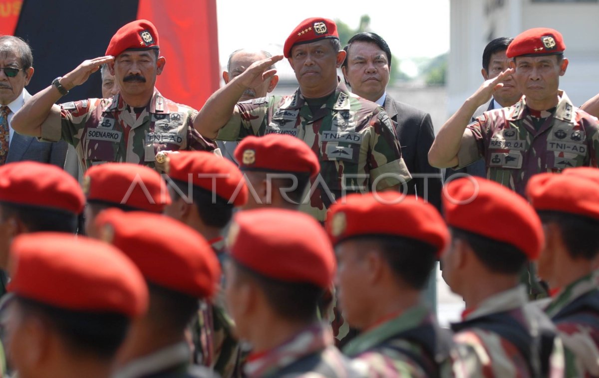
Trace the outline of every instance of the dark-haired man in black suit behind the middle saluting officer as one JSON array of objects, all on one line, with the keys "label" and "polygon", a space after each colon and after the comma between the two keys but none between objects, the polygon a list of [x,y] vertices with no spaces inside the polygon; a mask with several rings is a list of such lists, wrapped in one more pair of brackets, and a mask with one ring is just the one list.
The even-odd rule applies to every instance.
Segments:
[{"label": "dark-haired man in black suit behind the middle saluting officer", "polygon": [[395,123],[401,153],[412,180],[408,193],[441,205],[441,172],[428,163],[428,150],[435,138],[431,116],[413,106],[394,100],[386,92],[391,70],[391,50],[385,39],[371,32],[354,35],[344,48],[347,57],[341,66],[352,92],[376,102]]}]

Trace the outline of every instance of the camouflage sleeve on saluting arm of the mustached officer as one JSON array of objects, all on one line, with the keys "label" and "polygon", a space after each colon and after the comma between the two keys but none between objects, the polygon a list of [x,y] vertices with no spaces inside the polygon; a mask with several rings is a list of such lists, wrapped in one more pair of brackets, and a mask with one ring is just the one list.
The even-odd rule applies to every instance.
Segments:
[{"label": "camouflage sleeve on saluting arm of the mustached officer", "polygon": [[88,99],[53,105],[50,114],[41,124],[40,141],[63,140],[77,147],[83,128],[99,102],[100,99]]}]

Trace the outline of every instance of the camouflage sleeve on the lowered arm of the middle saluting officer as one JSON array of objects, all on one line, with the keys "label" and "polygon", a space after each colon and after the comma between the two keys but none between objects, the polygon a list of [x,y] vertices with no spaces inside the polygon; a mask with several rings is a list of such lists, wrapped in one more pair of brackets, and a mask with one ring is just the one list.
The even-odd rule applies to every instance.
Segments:
[{"label": "camouflage sleeve on the lowered arm of the middle saluting officer", "polygon": [[391,118],[381,110],[370,121],[370,180],[376,190],[384,190],[410,181],[412,176],[401,157],[401,147]]}]

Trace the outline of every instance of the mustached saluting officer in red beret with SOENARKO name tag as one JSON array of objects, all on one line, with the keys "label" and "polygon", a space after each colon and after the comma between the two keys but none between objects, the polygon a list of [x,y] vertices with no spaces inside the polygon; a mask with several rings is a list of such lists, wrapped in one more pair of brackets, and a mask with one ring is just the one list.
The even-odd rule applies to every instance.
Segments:
[{"label": "mustached saluting officer in red beret with SOENARKO name tag", "polygon": [[[213,151],[216,146],[193,129],[197,111],[166,99],[156,89],[165,63],[156,27],[147,20],[128,23],[110,40],[106,56],[84,61],[35,94],[15,115],[14,129],[44,141],[73,145],[83,172],[107,162],[160,170],[161,151]],[[104,64],[114,74],[120,93],[111,99],[54,105]]]}]

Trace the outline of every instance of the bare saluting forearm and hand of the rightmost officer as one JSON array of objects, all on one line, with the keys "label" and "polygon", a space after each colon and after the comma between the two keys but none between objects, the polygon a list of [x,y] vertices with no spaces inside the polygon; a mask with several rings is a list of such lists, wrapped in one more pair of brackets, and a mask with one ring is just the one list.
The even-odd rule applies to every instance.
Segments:
[{"label": "bare saluting forearm and hand of the rightmost officer", "polygon": [[491,99],[495,90],[503,87],[503,78],[512,75],[512,68],[501,72],[497,77],[485,81],[480,88],[441,126],[431,150],[428,151],[428,162],[437,168],[449,168],[458,165],[458,152],[462,135],[470,119],[480,105]]}]

